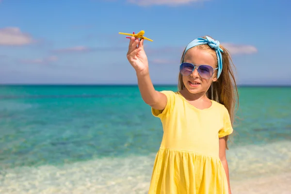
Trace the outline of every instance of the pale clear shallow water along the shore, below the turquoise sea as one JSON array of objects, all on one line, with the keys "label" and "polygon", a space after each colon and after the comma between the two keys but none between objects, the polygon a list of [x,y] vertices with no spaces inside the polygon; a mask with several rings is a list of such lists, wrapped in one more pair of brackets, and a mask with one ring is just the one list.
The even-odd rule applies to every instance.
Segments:
[{"label": "pale clear shallow water along the shore, below the turquoise sea", "polygon": [[[291,172],[291,142],[236,147],[227,152],[231,181]],[[146,194],[155,154],[17,167],[2,174],[7,194]],[[235,189],[235,187],[234,187]]]}]

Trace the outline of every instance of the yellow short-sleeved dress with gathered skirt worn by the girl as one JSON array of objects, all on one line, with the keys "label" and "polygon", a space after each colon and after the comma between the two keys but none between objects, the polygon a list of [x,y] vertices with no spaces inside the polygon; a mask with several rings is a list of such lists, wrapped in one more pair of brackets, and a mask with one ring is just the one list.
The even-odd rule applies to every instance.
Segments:
[{"label": "yellow short-sleeved dress with gathered skirt worn by the girl", "polygon": [[211,100],[197,109],[179,92],[162,91],[167,104],[152,108],[163,127],[148,194],[228,194],[226,173],[219,159],[219,138],[232,133],[224,105]]}]

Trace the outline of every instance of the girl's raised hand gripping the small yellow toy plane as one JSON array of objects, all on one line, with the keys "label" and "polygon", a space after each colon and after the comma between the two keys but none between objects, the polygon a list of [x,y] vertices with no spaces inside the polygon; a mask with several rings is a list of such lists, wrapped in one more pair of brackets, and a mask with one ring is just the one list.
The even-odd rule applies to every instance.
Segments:
[{"label": "girl's raised hand gripping the small yellow toy plane", "polygon": [[135,40],[133,36],[130,38],[127,58],[130,65],[132,65],[135,69],[136,73],[148,73],[148,61],[146,52],[144,50],[144,39],[139,41]]}]

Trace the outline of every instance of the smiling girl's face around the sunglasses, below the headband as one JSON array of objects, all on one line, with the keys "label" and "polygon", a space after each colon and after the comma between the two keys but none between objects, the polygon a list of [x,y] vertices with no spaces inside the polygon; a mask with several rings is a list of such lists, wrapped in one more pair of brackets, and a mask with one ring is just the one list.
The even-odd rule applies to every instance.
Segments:
[{"label": "smiling girl's face around the sunglasses, below the headband", "polygon": [[[198,65],[210,65],[213,69],[216,68],[217,59],[207,50],[191,48],[189,49],[184,57],[184,62]],[[197,71],[197,68],[194,69],[192,74],[188,76],[182,76],[183,83],[188,91],[192,94],[197,94],[201,92],[207,92],[212,81],[217,81],[217,70],[214,70],[214,73],[210,79],[206,79],[200,76]]]}]

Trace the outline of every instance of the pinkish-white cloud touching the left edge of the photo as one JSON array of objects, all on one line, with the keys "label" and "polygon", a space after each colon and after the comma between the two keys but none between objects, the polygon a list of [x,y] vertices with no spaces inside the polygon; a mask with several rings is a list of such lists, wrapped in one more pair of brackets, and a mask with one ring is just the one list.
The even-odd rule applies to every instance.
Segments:
[{"label": "pinkish-white cloud touching the left edge of the photo", "polygon": [[32,43],[32,37],[17,27],[0,28],[0,45],[20,46]]}]

